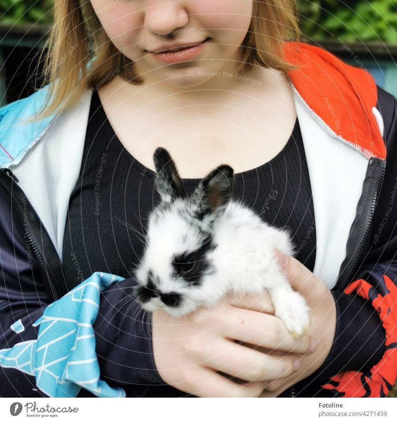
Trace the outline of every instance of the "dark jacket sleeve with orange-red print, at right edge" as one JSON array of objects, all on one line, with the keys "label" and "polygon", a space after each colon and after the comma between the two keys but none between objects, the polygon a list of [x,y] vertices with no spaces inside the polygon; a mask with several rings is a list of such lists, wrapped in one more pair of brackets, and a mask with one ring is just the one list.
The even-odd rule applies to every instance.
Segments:
[{"label": "dark jacket sleeve with orange-red print, at right edge", "polygon": [[[322,386],[339,397],[385,397],[397,378],[397,99],[378,87],[377,107],[385,123],[386,170],[374,211],[369,251],[351,283],[334,296],[341,317],[335,347],[327,359],[334,375]],[[354,318],[354,312],[360,316]],[[350,325],[352,330],[350,318],[357,324]],[[350,336],[357,343],[350,341]],[[352,343],[354,347],[362,344],[362,357],[353,356]],[[342,354],[346,357],[339,356]],[[339,358],[342,366],[337,368],[332,359]]]}]

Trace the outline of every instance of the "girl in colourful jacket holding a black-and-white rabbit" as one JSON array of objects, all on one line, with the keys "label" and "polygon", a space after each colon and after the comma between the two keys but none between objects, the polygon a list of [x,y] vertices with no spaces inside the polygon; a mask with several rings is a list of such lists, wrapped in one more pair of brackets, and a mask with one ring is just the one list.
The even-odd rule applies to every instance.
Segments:
[{"label": "girl in colourful jacket holding a black-and-white rabbit", "polygon": [[[298,35],[288,0],[56,1],[49,83],[0,110],[1,396],[388,393],[396,99]],[[141,312],[158,146],[188,194],[227,163],[234,195],[290,228],[307,335],[267,294]]]}]

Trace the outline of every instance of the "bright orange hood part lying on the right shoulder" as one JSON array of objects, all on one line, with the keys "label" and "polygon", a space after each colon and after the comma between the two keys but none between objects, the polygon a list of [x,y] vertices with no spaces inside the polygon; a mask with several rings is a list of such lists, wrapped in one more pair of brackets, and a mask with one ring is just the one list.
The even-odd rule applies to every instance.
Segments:
[{"label": "bright orange hood part lying on the right shoulder", "polygon": [[368,71],[300,42],[286,42],[284,58],[300,67],[287,72],[295,89],[337,136],[368,158],[386,158],[385,142],[373,113],[378,89]]}]

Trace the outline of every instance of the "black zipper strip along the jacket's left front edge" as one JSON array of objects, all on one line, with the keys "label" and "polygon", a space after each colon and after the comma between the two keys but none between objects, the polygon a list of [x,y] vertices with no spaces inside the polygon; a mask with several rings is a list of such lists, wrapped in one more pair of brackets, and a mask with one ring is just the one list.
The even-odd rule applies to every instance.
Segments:
[{"label": "black zipper strip along the jacket's left front edge", "polygon": [[62,263],[47,231],[36,217],[18,182],[18,178],[10,169],[1,169],[0,191],[11,202],[21,219],[25,228],[24,238],[46,274],[55,300],[58,300],[68,292]]}]

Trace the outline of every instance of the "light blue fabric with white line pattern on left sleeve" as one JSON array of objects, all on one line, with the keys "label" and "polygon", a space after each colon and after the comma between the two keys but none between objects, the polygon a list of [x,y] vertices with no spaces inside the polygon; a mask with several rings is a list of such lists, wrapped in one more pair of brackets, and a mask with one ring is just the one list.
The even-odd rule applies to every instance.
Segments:
[{"label": "light blue fabric with white line pattern on left sleeve", "polygon": [[[36,377],[36,385],[50,397],[76,397],[85,388],[98,397],[126,397],[99,378],[92,328],[98,315],[100,292],[123,277],[95,272],[61,299],[49,305],[33,324],[37,340],[22,341],[0,350],[0,366]],[[24,327],[20,320],[11,329]]]}]

